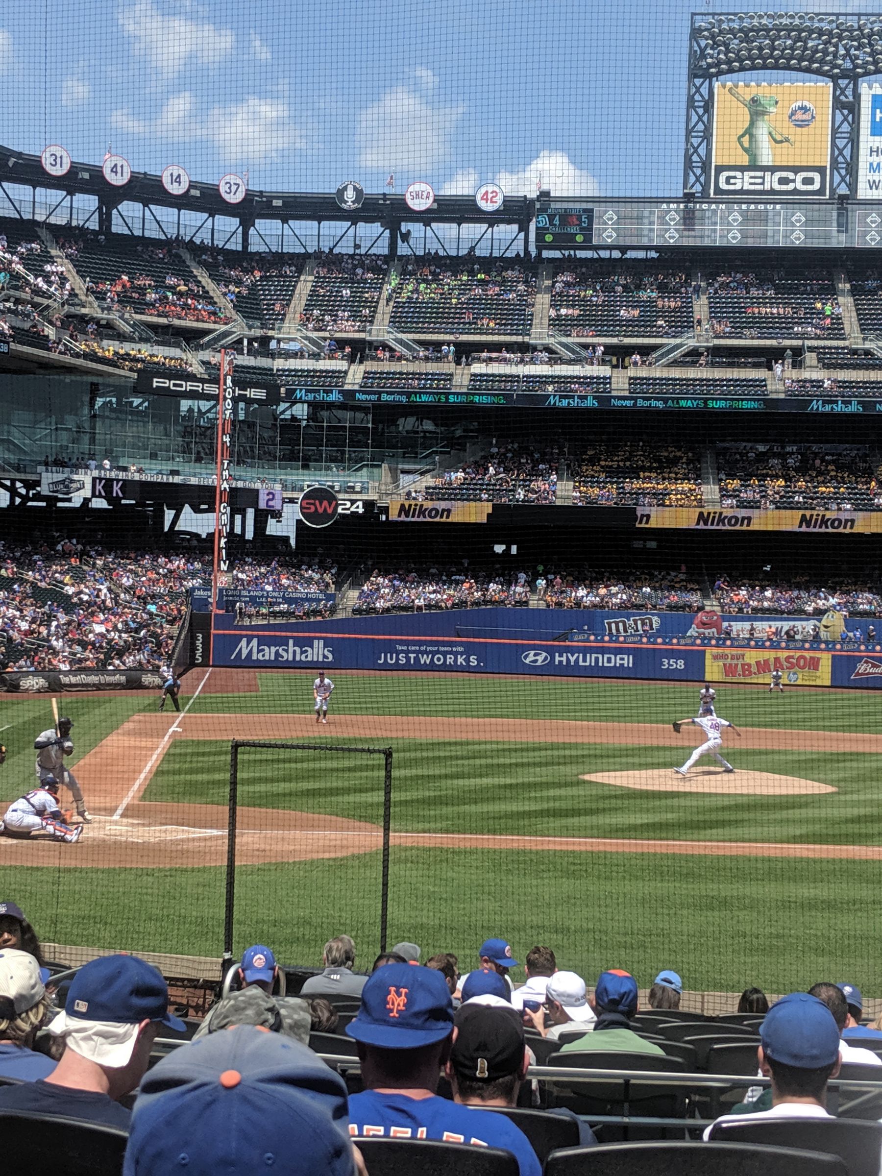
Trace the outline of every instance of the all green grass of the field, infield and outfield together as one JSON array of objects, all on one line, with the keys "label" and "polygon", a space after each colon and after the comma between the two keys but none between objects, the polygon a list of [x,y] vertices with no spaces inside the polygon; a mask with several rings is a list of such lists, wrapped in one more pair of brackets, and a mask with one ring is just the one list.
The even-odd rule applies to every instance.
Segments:
[{"label": "all green grass of the field, infield and outfield together", "polygon": [[[697,709],[694,684],[332,676],[338,683],[332,713],[339,715],[669,723]],[[194,689],[201,677],[191,674],[187,686]],[[258,693],[200,694],[191,714],[307,714],[313,677],[314,670],[259,674]],[[762,687],[720,683],[716,689],[719,713],[747,730],[880,731],[882,700],[871,691],[791,689],[770,697]],[[9,800],[33,786],[33,740],[52,724],[52,711],[46,697],[4,701],[0,740],[9,757],[0,768],[0,799]],[[127,719],[155,708],[151,694],[66,697],[62,710],[74,720],[74,770],[82,755]],[[338,741],[333,726],[320,731],[310,728],[309,741]],[[750,750],[728,736],[724,753],[736,768],[802,776],[838,791],[791,797],[641,793],[580,776],[673,768],[686,759],[697,731],[683,733],[676,755],[663,747],[561,744],[554,742],[552,724],[547,731],[546,741],[532,743],[363,742],[394,749],[395,830],[882,843],[875,755]],[[142,761],[139,750],[126,764],[128,775]],[[172,742],[145,800],[223,804],[228,776],[228,741],[188,740],[185,723],[183,737]],[[88,780],[81,782],[88,797]],[[379,757],[242,753],[240,803],[268,813],[301,809],[379,823],[381,789]],[[13,868],[2,864],[4,846],[0,840],[0,901],[20,902],[45,940],[220,954],[222,869]],[[675,967],[688,987],[710,990],[753,983],[781,990],[833,977],[873,991],[875,982],[867,928],[878,889],[876,862],[393,847],[390,870],[389,942],[413,938],[427,954],[454,950],[463,970],[477,943],[499,934],[512,940],[516,955],[533,943],[549,943],[560,949],[561,967],[588,977],[612,965],[633,969],[641,983],[660,967]],[[286,961],[318,962],[325,940],[347,930],[360,943],[360,962],[368,964],[379,946],[377,906],[377,854],[240,867],[236,948],[265,940]],[[855,918],[858,910],[866,918]]]}]

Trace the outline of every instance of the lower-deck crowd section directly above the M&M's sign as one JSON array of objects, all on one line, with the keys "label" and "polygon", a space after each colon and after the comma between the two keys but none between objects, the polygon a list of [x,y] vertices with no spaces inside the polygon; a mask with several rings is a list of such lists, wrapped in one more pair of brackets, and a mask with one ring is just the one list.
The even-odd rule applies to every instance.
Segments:
[{"label": "lower-deck crowd section directly above the M&M's sign", "polygon": [[680,572],[542,572],[536,595],[546,608],[628,608],[688,613],[702,607],[697,580]]}]

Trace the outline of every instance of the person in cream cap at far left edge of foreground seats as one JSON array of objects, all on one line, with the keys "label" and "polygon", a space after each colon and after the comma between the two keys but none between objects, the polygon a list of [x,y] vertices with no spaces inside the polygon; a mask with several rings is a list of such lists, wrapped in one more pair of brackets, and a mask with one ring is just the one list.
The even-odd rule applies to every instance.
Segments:
[{"label": "person in cream cap at far left edge of foreground seats", "polygon": [[45,1078],[55,1063],[32,1047],[48,1000],[36,960],[14,948],[0,951],[0,1077]]}]

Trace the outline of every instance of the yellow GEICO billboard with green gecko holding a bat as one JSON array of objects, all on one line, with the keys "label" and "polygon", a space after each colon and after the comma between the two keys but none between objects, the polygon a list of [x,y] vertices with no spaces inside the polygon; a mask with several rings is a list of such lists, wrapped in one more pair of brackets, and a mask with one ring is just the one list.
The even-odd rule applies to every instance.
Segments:
[{"label": "yellow GEICO billboard with green gecko holding a bat", "polygon": [[717,82],[710,195],[824,199],[830,93],[828,82]]}]

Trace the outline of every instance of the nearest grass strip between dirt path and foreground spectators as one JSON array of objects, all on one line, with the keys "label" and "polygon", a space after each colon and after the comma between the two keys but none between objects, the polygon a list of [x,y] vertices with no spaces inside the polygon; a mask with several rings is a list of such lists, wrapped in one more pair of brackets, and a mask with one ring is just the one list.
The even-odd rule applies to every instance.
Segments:
[{"label": "nearest grass strip between dirt path and foreground spectators", "polygon": [[[368,854],[239,869],[235,951],[265,942],[285,963],[318,965],[328,935],[346,930],[356,968],[369,969],[379,868],[380,855]],[[855,928],[854,910],[858,896],[875,895],[877,876],[870,862],[722,857],[709,869],[706,858],[677,856],[395,849],[389,943],[414,940],[425,958],[454,951],[466,971],[481,941],[500,934],[521,963],[547,943],[560,968],[589,983],[626,968],[648,985],[673,961],[690,990],[804,990],[847,976],[868,977],[867,996],[877,991],[875,943]],[[219,957],[223,870],[186,878],[185,893],[173,869],[85,869],[75,886],[58,887],[55,870],[0,867],[0,891],[46,941]],[[514,977],[522,981],[523,969]]]}]

